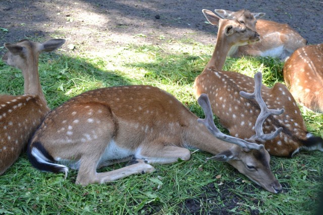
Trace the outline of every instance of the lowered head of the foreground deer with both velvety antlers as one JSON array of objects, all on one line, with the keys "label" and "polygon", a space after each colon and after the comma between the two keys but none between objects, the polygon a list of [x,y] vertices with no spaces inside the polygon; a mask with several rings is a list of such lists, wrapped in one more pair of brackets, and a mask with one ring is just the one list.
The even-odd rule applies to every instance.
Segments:
[{"label": "lowered head of the foreground deer with both velvety antlers", "polygon": [[[261,179],[263,175],[266,175],[267,172],[270,171],[270,156],[267,153],[267,151],[264,150],[263,145],[257,145],[253,142],[263,142],[264,140],[273,139],[282,131],[282,128],[278,128],[270,134],[264,134],[262,130],[262,124],[265,118],[267,118],[271,114],[282,114],[284,112],[284,109],[274,110],[267,108],[265,102],[261,98],[261,80],[261,73],[258,72],[257,74],[255,74],[254,92],[240,92],[240,95],[245,98],[255,98],[261,109],[260,114],[257,117],[255,123],[256,134],[247,139],[248,141],[234,136],[223,134],[214,125],[211,105],[206,94],[201,94],[198,98],[198,102],[205,113],[205,119],[198,119],[198,122],[204,124],[207,127],[207,129],[217,138],[240,146],[240,148],[236,148],[237,151],[227,150],[209,159],[227,161],[258,185],[264,187],[267,190],[274,189],[277,193],[281,191],[282,187],[277,181],[274,180],[273,177],[270,179],[271,181],[273,181],[273,183],[271,184],[268,184],[267,182]],[[250,156],[250,154],[252,156]]]}]

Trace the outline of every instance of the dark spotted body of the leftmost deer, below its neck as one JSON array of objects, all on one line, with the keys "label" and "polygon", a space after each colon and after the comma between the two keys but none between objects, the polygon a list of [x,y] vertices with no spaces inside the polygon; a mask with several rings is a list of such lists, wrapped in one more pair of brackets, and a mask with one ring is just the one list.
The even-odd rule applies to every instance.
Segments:
[{"label": "dark spotted body of the leftmost deer, below its neck", "polygon": [[17,160],[47,112],[38,96],[0,96],[0,174]]}]

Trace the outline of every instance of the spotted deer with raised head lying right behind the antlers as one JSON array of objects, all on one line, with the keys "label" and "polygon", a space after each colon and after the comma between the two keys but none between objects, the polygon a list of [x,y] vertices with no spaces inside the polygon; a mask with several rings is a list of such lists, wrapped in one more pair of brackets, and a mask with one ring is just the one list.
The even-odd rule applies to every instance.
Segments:
[{"label": "spotted deer with raised head lying right behind the antlers", "polygon": [[[210,23],[219,26],[219,30],[212,57],[202,74],[195,79],[195,96],[198,98],[202,93],[208,94],[214,114],[230,134],[242,139],[249,138],[255,132],[254,124],[260,109],[253,99],[242,98],[239,92],[253,91],[254,79],[234,71],[222,71],[230,47],[244,37],[232,29],[232,23],[236,23],[238,29],[243,28],[243,24],[236,20],[223,20],[210,11],[203,10],[203,13]],[[230,35],[227,34],[228,28],[233,31]],[[247,32],[252,31],[245,28]],[[293,96],[283,84],[277,83],[271,89],[262,86],[261,94],[268,107],[285,109],[283,114],[270,116],[263,123],[266,133],[278,127],[283,128],[276,138],[260,141],[271,155],[293,157],[300,149],[323,151],[323,139],[307,131]]]}]

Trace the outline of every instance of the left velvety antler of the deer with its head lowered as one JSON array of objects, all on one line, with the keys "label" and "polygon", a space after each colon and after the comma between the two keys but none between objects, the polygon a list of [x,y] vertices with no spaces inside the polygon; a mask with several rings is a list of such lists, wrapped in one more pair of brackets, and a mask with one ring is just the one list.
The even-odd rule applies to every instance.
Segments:
[{"label": "left velvety antler of the deer with its head lowered", "polygon": [[232,144],[236,144],[236,145],[238,145],[242,148],[245,148],[245,149],[260,150],[261,148],[263,148],[263,145],[254,144],[253,142],[248,142],[246,140],[239,139],[237,137],[222,133],[217,128],[217,126],[214,124],[213,113],[212,113],[210,101],[209,101],[207,95],[204,93],[201,94],[200,97],[197,99],[197,101],[198,101],[198,104],[203,109],[204,114],[205,114],[205,119],[197,119],[197,122],[204,124],[206,126],[206,128],[218,139],[221,139],[221,140],[224,140],[227,142],[231,142]]}]

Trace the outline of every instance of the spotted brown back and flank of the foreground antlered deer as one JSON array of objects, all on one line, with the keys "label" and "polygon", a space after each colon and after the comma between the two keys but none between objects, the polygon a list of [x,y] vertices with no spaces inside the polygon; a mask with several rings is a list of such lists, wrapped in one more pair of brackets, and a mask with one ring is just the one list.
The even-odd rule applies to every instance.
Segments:
[{"label": "spotted brown back and flank of the foreground antlered deer", "polygon": [[[156,96],[158,99],[155,99]],[[69,157],[63,154],[71,153],[74,156],[75,151],[65,151],[59,144],[65,146],[69,139],[84,142],[84,145],[80,144],[80,149],[86,151],[92,147],[86,140],[109,130],[119,146],[134,150],[147,136],[152,139],[163,136],[165,140],[178,136],[182,126],[196,120],[195,116],[186,120],[184,116],[187,115],[192,113],[173,96],[158,88],[102,88],[82,93],[51,111],[33,139],[39,139],[53,157]],[[102,127],[97,128],[97,125]],[[48,139],[58,139],[60,143],[52,145]],[[61,139],[67,139],[67,142]],[[178,138],[176,140],[179,142]],[[103,145],[106,144],[106,140],[101,141]],[[149,144],[149,141],[145,143]]]}]

